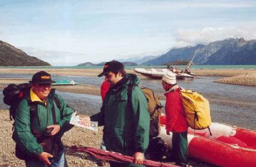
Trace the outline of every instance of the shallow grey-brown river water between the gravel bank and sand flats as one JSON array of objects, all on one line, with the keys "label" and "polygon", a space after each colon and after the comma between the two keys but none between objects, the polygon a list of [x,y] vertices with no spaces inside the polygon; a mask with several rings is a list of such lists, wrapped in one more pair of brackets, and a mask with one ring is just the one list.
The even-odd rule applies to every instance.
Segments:
[{"label": "shallow grey-brown river water between the gravel bank and sand flats", "polygon": [[[32,75],[1,75],[0,78],[31,78]],[[82,85],[100,86],[104,78],[86,76],[58,76],[55,80],[73,79]],[[256,88],[252,86],[225,85],[213,81],[219,77],[200,77],[191,81],[178,81],[179,85],[186,89],[200,92],[210,101],[210,109],[213,122],[228,123],[255,129],[256,120]],[[156,94],[163,94],[161,80],[141,79],[141,87],[152,88]],[[101,97],[97,95],[84,95],[59,92],[67,100],[70,106],[80,113],[92,115],[100,111]],[[0,92],[2,99],[2,90]],[[8,106],[0,101],[0,109],[8,109]]]}]

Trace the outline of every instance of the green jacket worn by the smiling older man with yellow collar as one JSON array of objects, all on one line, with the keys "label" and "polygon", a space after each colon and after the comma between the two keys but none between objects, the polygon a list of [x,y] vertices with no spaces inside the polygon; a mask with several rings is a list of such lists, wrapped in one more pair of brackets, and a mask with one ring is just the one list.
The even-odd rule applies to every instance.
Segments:
[{"label": "green jacket worn by the smiling older man with yellow collar", "polygon": [[47,106],[37,102],[37,115],[35,116],[31,116],[29,93],[26,93],[23,100],[20,101],[14,121],[13,139],[16,141],[17,147],[26,156],[37,157],[44,151],[41,144],[37,142],[36,137],[42,137],[46,127],[53,125],[52,107],[55,109],[56,122],[61,126],[61,130],[54,137],[55,143],[63,149],[61,137],[65,131],[72,127],[69,122],[74,110],[67,105],[63,98],[56,94],[60,102],[59,110],[54,102],[54,95],[55,89],[52,89],[47,97]]}]

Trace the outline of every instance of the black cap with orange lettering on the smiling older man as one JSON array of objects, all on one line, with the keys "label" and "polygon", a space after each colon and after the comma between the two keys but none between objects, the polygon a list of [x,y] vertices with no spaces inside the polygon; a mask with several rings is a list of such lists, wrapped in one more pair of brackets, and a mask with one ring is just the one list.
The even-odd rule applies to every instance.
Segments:
[{"label": "black cap with orange lettering on the smiling older man", "polygon": [[52,84],[55,81],[52,81],[51,75],[47,72],[41,71],[33,75],[32,81],[29,81],[32,84]]}]

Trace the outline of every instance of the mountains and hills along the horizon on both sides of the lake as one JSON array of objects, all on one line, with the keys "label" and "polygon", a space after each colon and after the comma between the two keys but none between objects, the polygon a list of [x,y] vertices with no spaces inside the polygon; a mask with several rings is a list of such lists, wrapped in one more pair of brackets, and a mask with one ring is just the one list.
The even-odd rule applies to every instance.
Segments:
[{"label": "mountains and hills along the horizon on both sides of the lake", "polygon": [[[243,38],[228,38],[198,44],[194,47],[173,48],[158,56],[133,57],[120,59],[127,66],[137,64],[158,66],[171,62],[190,61],[194,64],[209,65],[253,65],[256,64],[256,40],[246,41]],[[103,66],[100,64],[82,63],[78,66]],[[0,66],[50,66],[46,61],[31,57],[22,50],[0,41]]]}]

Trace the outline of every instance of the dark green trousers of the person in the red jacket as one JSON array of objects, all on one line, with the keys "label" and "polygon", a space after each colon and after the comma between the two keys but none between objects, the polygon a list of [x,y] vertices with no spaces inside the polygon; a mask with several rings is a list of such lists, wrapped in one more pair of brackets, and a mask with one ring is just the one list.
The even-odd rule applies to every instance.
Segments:
[{"label": "dark green trousers of the person in the red jacket", "polygon": [[188,138],[187,132],[175,133],[173,132],[172,144],[173,144],[173,154],[176,154],[179,162],[186,163],[188,157]]}]

